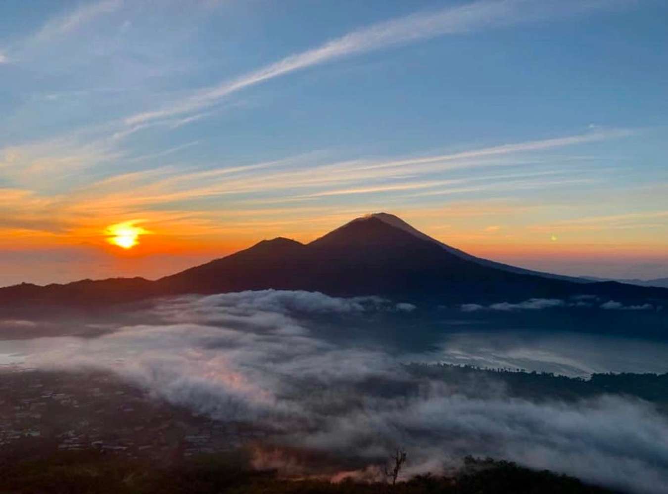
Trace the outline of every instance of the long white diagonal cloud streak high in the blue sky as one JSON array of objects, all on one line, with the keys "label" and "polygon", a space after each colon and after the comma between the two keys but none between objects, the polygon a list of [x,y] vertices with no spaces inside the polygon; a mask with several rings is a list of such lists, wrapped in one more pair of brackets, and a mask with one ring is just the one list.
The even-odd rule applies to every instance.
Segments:
[{"label": "long white diagonal cloud streak high in the blue sky", "polygon": [[215,87],[204,89],[173,105],[156,111],[138,113],[126,119],[134,126],[155,119],[163,119],[180,113],[197,111],[216,104],[220,99],[246,87],[281,77],[288,73],[341,59],[351,55],[367,53],[393,45],[403,45],[442,35],[468,33],[476,29],[513,25],[536,21],[554,15],[578,13],[588,9],[609,7],[617,1],[562,1],[556,4],[532,0],[476,1],[448,7],[440,11],[415,13],[380,22],[352,31],[319,47],[290,55],[276,63],[247,73],[236,79],[224,81]]}]

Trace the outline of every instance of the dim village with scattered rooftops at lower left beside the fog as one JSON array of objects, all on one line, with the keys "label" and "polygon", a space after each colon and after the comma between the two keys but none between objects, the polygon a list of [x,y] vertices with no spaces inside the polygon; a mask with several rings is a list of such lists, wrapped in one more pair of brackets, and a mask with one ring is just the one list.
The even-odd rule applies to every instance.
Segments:
[{"label": "dim village with scattered rooftops at lower left beside the fog", "polygon": [[258,434],[198,417],[105,373],[0,370],[0,459],[96,449],[174,461],[229,451]]}]

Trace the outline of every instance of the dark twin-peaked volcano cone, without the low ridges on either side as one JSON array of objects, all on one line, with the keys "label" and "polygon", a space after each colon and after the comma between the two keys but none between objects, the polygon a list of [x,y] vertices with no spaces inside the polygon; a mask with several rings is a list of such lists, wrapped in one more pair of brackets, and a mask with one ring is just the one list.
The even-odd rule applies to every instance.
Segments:
[{"label": "dark twin-peaked volcano cone, without the low ridges on either side", "polygon": [[[535,278],[535,279],[534,279]],[[277,288],[355,296],[384,294],[409,299],[524,285],[529,293],[544,278],[525,278],[462,259],[373,216],[359,218],[303,245],[285,238],[158,280],[167,294]],[[485,288],[487,287],[487,288]]]}]

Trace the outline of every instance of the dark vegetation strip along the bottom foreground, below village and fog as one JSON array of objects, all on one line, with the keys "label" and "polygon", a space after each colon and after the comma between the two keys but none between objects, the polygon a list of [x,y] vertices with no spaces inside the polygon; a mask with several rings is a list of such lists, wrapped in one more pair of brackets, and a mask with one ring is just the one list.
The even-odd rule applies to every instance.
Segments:
[{"label": "dark vegetation strip along the bottom foreground, below village and fog", "polygon": [[316,479],[281,479],[272,471],[254,471],[238,455],[209,455],[159,467],[94,451],[0,465],[1,494],[180,494],[180,493],[411,493],[550,494],[606,493],[548,471],[532,471],[506,461],[467,458],[454,477],[421,475],[389,483],[341,483]]}]

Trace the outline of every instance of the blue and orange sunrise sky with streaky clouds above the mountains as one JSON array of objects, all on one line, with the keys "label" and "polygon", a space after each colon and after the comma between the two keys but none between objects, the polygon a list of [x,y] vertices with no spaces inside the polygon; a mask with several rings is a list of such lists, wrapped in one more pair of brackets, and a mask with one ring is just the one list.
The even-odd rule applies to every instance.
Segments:
[{"label": "blue and orange sunrise sky with streaky clouds above the mountains", "polygon": [[380,211],[518,266],[668,276],[666,19],[663,0],[5,0],[0,285],[156,278]]}]

